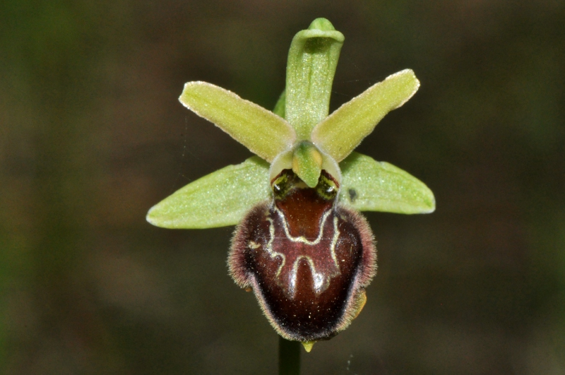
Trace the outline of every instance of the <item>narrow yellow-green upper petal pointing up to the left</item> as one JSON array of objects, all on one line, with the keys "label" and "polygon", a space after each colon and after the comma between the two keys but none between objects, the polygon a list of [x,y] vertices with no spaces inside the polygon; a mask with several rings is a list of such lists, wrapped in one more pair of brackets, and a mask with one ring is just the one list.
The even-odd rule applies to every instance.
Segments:
[{"label": "narrow yellow-green upper petal pointing up to the left", "polygon": [[186,83],[179,100],[268,162],[296,140],[285,119],[211,83]]}]

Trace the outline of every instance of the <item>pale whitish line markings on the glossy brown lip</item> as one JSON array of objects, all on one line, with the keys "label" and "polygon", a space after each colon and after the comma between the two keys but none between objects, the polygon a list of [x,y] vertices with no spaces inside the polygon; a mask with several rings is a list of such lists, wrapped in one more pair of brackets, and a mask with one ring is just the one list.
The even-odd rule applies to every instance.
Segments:
[{"label": "pale whitish line markings on the glossy brown lip", "polygon": [[[331,210],[326,210],[326,212],[323,213],[323,216],[322,216],[321,222],[320,222],[320,226],[319,226],[318,236],[316,237],[316,239],[311,241],[304,236],[293,237],[290,234],[288,222],[287,222],[287,219],[285,218],[285,215],[283,214],[283,212],[280,211],[276,207],[275,207],[275,211],[278,213],[280,220],[283,222],[283,227],[284,227],[284,230],[285,230],[285,237],[290,242],[302,243],[306,246],[316,246],[322,241],[322,239],[324,238],[323,237],[323,230],[324,230],[324,227],[326,225],[326,220],[328,220],[329,215],[331,215]],[[275,242],[275,223],[274,223],[273,219],[271,219],[271,218],[267,218],[267,220],[269,222],[269,240],[268,240],[268,242],[265,246],[265,251],[267,251],[270,258],[272,258],[272,259],[276,258],[277,256],[280,256],[281,263],[280,263],[280,266],[278,266],[277,273],[275,274],[275,278],[279,278],[280,273],[283,270],[283,267],[285,266],[285,263],[286,263],[286,256],[285,256],[285,254],[280,253],[278,251],[275,251],[273,249],[273,243]],[[305,259],[307,261],[309,267],[310,267],[310,270],[311,270],[311,273],[312,273],[312,278],[314,280],[314,292],[316,292],[316,294],[319,294],[319,293],[323,292],[323,290],[326,290],[326,287],[328,287],[328,284],[329,284],[329,279],[331,279],[335,275],[340,274],[338,259],[337,259],[337,256],[335,256],[335,246],[337,246],[337,244],[338,244],[339,237],[340,237],[340,231],[338,230],[338,217],[334,216],[334,218],[333,218],[333,237],[331,239],[329,251],[330,251],[332,261],[333,261],[333,266],[335,266],[335,271],[333,273],[328,272],[327,275],[324,275],[323,272],[318,272],[316,270],[316,263],[314,262],[314,259],[311,256],[309,256],[307,254],[298,255],[294,259],[294,261],[292,263],[292,268],[290,269],[289,275],[288,275],[288,287],[289,287],[288,292],[290,293],[291,297],[295,297],[295,294],[296,294],[298,267],[299,267],[299,262],[302,259]],[[256,242],[251,241],[251,242],[249,242],[249,247],[251,249],[258,249],[260,247],[260,245],[257,244]]]}]

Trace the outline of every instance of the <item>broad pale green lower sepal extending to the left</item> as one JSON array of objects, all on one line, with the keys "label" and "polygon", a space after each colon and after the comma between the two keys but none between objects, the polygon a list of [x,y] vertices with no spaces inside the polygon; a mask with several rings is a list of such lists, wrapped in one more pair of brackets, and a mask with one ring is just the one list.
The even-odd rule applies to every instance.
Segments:
[{"label": "broad pale green lower sepal extending to the left", "polygon": [[149,210],[147,221],[172,229],[235,225],[251,207],[270,194],[269,165],[254,156],[174,192]]}]

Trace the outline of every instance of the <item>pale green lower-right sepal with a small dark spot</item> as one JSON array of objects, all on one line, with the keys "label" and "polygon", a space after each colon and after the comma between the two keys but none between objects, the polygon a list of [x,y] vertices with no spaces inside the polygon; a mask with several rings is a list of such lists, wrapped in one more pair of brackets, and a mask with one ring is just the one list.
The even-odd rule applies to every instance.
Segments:
[{"label": "pale green lower-right sepal with a small dark spot", "polygon": [[436,209],[432,191],[394,165],[352,153],[340,167],[340,203],[360,211],[389,213],[431,213]]}]

